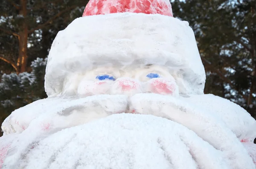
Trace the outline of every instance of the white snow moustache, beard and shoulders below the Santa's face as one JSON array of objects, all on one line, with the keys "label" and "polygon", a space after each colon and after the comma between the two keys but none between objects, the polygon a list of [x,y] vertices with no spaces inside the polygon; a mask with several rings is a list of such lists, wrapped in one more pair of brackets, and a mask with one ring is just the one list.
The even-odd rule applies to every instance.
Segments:
[{"label": "white snow moustache, beard and shoulders below the Santa's face", "polygon": [[242,108],[213,95],[57,97],[15,110],[3,123],[0,154],[8,169],[254,169],[247,144],[255,146],[255,126]]}]

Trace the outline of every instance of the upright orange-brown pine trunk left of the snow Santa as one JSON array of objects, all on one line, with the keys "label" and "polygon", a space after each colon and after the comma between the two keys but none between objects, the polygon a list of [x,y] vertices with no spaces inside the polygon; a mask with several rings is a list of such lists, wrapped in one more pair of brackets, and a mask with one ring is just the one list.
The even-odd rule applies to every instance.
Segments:
[{"label": "upright orange-brown pine trunk left of the snow Santa", "polygon": [[17,66],[19,67],[19,72],[22,73],[26,71],[27,68],[27,41],[28,41],[28,25],[26,22],[27,15],[27,0],[20,0],[20,15],[23,16],[23,23],[19,31],[19,58],[17,61]]}]

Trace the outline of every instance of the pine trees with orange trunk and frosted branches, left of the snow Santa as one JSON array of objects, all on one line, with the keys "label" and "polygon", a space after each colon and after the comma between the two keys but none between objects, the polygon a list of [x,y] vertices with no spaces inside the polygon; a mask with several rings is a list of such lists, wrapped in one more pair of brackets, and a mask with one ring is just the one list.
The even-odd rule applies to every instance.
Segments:
[{"label": "pine trees with orange trunk and frosted branches, left of the snow Santa", "polygon": [[58,31],[81,17],[86,4],[80,0],[1,2],[0,124],[13,110],[46,97],[44,58]]}]

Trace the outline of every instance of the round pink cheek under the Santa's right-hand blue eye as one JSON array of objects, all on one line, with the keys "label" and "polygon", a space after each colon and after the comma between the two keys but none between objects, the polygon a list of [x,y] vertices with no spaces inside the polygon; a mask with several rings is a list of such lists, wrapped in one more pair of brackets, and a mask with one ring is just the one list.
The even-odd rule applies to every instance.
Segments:
[{"label": "round pink cheek under the Santa's right-hand blue eye", "polygon": [[172,94],[175,91],[175,85],[169,84],[169,82],[163,80],[154,80],[151,83],[151,89],[153,93]]}]

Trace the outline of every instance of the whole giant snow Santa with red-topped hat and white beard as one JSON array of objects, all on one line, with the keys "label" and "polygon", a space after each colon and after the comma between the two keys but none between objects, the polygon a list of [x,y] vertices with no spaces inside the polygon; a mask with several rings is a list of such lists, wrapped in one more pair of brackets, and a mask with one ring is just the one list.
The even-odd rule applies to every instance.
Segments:
[{"label": "whole giant snow Santa with red-topped hat and white beard", "polygon": [[90,0],[49,52],[48,98],[2,124],[2,169],[255,169],[256,121],[204,95],[169,0]]}]

